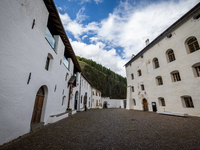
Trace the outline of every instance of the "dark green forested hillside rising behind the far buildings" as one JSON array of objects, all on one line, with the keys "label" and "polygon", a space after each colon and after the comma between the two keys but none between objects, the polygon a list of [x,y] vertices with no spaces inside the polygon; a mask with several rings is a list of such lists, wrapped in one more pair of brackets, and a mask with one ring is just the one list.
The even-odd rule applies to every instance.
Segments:
[{"label": "dark green forested hillside rising behind the far buildings", "polygon": [[83,74],[92,85],[102,92],[102,97],[112,99],[126,98],[126,78],[107,69],[93,60],[78,57]]}]

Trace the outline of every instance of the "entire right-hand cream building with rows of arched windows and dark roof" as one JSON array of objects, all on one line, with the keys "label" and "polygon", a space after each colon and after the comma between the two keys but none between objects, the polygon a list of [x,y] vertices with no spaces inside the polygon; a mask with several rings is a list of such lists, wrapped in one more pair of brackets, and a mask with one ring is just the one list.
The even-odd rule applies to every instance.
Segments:
[{"label": "entire right-hand cream building with rows of arched windows and dark roof", "polygon": [[126,63],[127,109],[200,116],[200,3]]}]

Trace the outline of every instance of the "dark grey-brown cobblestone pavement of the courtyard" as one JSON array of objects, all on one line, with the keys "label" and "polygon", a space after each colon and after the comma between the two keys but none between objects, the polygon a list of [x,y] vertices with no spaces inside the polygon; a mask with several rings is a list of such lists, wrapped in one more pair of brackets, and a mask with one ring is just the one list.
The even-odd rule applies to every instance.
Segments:
[{"label": "dark grey-brown cobblestone pavement of the courtyard", "polygon": [[200,118],[91,109],[47,125],[0,149],[200,150]]}]

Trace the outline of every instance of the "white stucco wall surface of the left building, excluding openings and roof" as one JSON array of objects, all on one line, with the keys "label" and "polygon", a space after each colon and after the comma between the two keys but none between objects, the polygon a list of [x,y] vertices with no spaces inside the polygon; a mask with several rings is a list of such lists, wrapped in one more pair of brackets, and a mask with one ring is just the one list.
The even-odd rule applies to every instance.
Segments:
[{"label": "white stucco wall surface of the left building, excluding openings and roof", "polygon": [[[70,70],[60,64],[64,45],[59,36],[54,37],[57,53],[45,39],[48,11],[43,1],[3,0],[0,2],[0,14],[1,145],[30,131],[35,97],[41,86],[45,89],[41,122],[47,124],[51,115],[65,112],[68,81],[74,67],[71,59]],[[33,19],[35,26],[32,29]],[[48,54],[53,59],[47,71],[45,63]],[[31,79],[27,84],[29,73]],[[67,73],[69,76],[65,81]],[[63,96],[66,100],[62,105]]]}]

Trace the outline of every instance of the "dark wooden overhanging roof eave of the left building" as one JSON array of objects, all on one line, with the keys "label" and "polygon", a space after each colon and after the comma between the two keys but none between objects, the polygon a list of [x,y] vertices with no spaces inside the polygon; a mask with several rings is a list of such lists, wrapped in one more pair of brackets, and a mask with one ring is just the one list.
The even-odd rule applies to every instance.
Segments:
[{"label": "dark wooden overhanging roof eave of the left building", "polygon": [[53,22],[54,26],[56,27],[57,33],[60,35],[64,45],[65,45],[65,53],[68,52],[70,58],[72,58],[72,61],[75,66],[75,70],[82,72],[81,67],[76,59],[76,55],[73,51],[73,48],[69,42],[69,39],[67,37],[67,34],[65,32],[65,29],[63,27],[63,24],[61,22],[61,19],[59,17],[58,11],[56,9],[56,6],[53,2],[53,0],[43,0],[47,10],[49,11],[49,17],[51,18],[51,21]]}]

